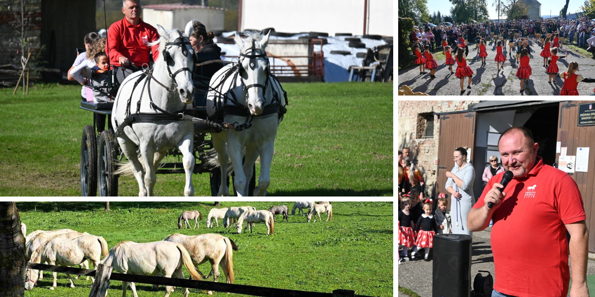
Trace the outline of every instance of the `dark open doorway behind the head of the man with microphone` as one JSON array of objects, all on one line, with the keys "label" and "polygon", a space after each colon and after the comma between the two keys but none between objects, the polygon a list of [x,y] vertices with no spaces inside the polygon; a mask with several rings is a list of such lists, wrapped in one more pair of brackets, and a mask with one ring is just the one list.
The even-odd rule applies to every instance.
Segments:
[{"label": "dark open doorway behind the head of the man with microphone", "polygon": [[537,156],[543,163],[552,166],[556,162],[556,135],[558,133],[558,105],[544,106],[533,113],[523,127],[533,132],[535,142],[539,144]]}]

